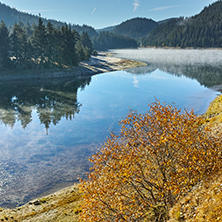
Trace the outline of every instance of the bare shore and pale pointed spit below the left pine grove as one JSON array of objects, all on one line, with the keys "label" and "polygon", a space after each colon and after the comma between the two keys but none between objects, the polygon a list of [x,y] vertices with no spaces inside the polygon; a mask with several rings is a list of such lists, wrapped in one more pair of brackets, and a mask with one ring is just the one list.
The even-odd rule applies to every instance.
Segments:
[{"label": "bare shore and pale pointed spit below the left pine grove", "polygon": [[[40,70],[10,70],[0,73],[0,83],[5,81],[28,81],[59,79],[66,77],[92,76],[100,73],[120,71],[129,68],[146,66],[144,62],[120,59],[109,52],[99,52],[98,56],[91,56],[89,61],[82,61],[79,66]],[[30,74],[31,73],[31,74]]]}]

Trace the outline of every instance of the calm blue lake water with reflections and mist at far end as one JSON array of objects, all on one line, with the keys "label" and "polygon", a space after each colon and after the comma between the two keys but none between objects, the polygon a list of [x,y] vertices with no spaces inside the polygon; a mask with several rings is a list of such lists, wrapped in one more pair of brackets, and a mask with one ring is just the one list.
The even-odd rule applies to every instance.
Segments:
[{"label": "calm blue lake water with reflections and mist at far end", "polygon": [[0,83],[1,206],[24,204],[72,185],[78,175],[84,177],[88,158],[110,131],[119,131],[118,121],[129,108],[145,112],[157,98],[203,114],[221,93],[222,50],[208,51],[214,59],[206,61],[201,50],[185,51],[181,63],[175,61],[178,55],[168,61],[173,55],[164,50],[156,50],[158,55],[143,51],[152,52],[155,59],[148,54],[139,58],[140,51],[113,52],[146,61],[146,67],[93,77]]}]

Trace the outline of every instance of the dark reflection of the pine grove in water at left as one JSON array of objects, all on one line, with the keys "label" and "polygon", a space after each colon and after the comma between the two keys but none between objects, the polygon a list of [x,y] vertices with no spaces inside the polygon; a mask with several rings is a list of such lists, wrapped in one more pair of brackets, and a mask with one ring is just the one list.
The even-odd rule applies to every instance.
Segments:
[{"label": "dark reflection of the pine grove in water at left", "polygon": [[78,89],[84,89],[91,77],[0,84],[0,121],[13,128],[16,121],[23,128],[32,121],[35,110],[46,132],[62,118],[73,119],[80,111]]}]

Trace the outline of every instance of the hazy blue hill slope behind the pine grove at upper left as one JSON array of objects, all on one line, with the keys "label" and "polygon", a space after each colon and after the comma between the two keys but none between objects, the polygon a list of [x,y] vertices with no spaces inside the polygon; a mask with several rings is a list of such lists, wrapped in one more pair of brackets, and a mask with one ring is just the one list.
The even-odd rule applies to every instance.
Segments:
[{"label": "hazy blue hill slope behind the pine grove at upper left", "polygon": [[[27,25],[29,23],[30,25],[32,24],[38,24],[39,16],[32,15],[29,13],[25,12],[20,12],[14,8],[11,8],[5,4],[0,3],[0,21],[3,20],[4,23],[7,26],[13,26],[15,23],[24,23]],[[52,19],[43,19],[43,22],[46,24],[48,22],[51,22],[55,27],[61,27],[65,25],[64,22],[52,20]],[[72,29],[75,29],[77,32],[82,33],[82,32],[87,32],[90,37],[95,37],[97,36],[96,30],[88,25],[71,25]]]}]

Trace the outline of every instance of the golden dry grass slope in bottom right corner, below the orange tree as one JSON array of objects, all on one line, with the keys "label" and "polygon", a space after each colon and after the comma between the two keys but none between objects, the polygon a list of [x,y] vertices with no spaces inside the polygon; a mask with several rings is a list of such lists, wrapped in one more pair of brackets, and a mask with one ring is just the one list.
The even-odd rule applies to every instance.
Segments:
[{"label": "golden dry grass slope in bottom right corner, below the orange tree", "polygon": [[170,211],[170,221],[222,221],[222,172],[190,192]]}]

